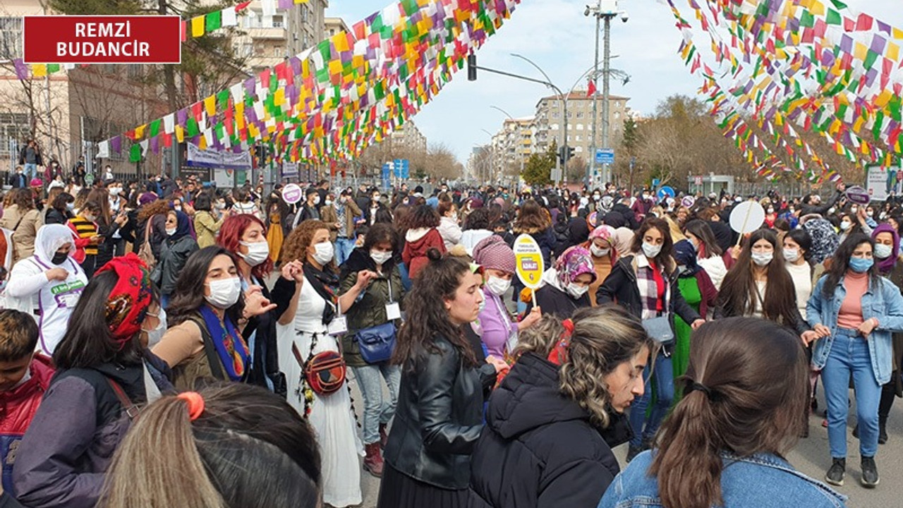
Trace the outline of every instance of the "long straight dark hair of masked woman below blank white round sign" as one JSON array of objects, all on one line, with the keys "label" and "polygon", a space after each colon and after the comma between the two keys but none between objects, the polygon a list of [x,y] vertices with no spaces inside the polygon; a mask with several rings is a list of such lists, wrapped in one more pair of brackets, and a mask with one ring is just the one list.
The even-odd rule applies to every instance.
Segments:
[{"label": "long straight dark hair of masked woman below blank white round sign", "polygon": [[792,325],[799,312],[796,308],[796,291],[793,278],[784,267],[782,246],[777,244],[777,235],[772,230],[753,231],[749,240],[744,242],[740,257],[721,282],[718,306],[728,316],[752,315],[755,312],[759,289],[753,273],[752,246],[759,240],[767,240],[775,251],[766,272],[768,284],[765,295],[762,295],[762,315],[766,319],[775,322],[783,320],[785,325]]}]

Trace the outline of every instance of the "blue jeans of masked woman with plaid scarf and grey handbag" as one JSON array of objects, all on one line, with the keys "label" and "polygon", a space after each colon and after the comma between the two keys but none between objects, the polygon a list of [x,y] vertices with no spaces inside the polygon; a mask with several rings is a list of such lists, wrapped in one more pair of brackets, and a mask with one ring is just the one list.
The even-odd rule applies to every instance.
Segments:
[{"label": "blue jeans of masked woman with plaid scarf and grey handbag", "polygon": [[[649,372],[652,372],[651,376]],[[671,357],[665,356],[663,353],[656,355],[655,366],[650,371],[643,372],[643,382],[645,389],[643,396],[634,400],[630,405],[630,427],[633,428],[633,437],[630,439],[631,447],[639,447],[643,443],[643,439],[656,435],[658,427],[661,426],[662,420],[671,408],[671,403],[675,400],[675,375],[674,367],[671,364]],[[651,377],[651,381],[650,381]],[[656,403],[646,416],[646,408],[649,400],[652,399],[652,383],[656,384]],[[646,423],[646,428],[643,424]]]}]

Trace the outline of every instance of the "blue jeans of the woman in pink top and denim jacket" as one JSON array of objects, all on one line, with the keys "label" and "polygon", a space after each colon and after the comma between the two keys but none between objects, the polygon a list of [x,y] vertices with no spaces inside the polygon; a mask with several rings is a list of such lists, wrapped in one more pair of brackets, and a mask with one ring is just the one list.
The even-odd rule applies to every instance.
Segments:
[{"label": "blue jeans of the woman in pink top and denim jacket", "polygon": [[875,456],[881,386],[871,369],[869,343],[855,330],[838,328],[822,370],[824,399],[828,405],[828,443],[833,458],[846,457],[851,374],[859,422],[859,451],[861,456]]}]

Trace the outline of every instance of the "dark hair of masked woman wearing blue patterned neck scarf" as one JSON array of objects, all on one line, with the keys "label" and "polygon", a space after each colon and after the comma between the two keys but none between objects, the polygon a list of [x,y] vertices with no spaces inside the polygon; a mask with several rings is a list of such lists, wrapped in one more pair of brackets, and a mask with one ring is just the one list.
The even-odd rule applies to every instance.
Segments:
[{"label": "dark hair of masked woman wearing blue patterned neck scarf", "polygon": [[[210,263],[217,256],[228,256],[238,268],[238,261],[235,254],[227,249],[219,247],[219,245],[211,245],[200,250],[196,250],[185,261],[185,268],[179,273],[179,280],[175,283],[175,292],[172,293],[172,303],[166,309],[166,315],[172,316],[172,324],[179,325],[189,318],[192,314],[198,312],[200,307],[207,305],[207,299],[204,297],[204,281],[207,280],[207,272],[210,269]],[[234,306],[226,309],[226,315],[232,320],[233,324],[237,324],[241,318],[241,313],[245,308],[245,295],[238,296],[238,301]]]}]

